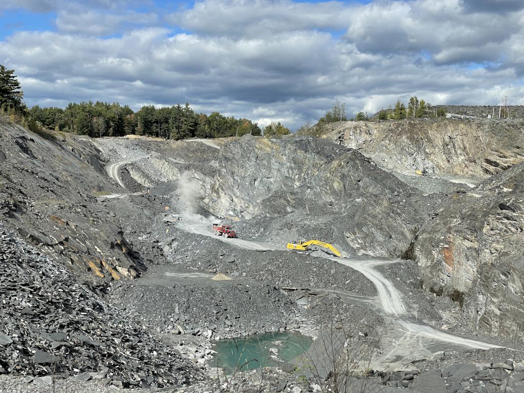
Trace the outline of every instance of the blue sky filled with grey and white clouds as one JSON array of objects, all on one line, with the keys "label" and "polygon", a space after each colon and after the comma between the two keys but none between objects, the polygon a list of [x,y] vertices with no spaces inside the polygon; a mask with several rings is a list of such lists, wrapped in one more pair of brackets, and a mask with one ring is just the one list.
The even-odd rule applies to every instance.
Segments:
[{"label": "blue sky filled with grey and white clouds", "polygon": [[189,102],[291,129],[417,95],[524,105],[524,0],[1,0],[27,105]]}]

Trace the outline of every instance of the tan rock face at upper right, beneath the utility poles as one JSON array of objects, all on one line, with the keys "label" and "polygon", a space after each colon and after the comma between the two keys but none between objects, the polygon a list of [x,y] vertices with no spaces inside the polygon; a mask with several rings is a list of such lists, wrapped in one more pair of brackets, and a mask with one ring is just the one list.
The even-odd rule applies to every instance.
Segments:
[{"label": "tan rock face at upper right, beneath the utility poles", "polygon": [[522,127],[522,119],[341,122],[322,137],[358,149],[390,171],[486,178],[524,161]]}]

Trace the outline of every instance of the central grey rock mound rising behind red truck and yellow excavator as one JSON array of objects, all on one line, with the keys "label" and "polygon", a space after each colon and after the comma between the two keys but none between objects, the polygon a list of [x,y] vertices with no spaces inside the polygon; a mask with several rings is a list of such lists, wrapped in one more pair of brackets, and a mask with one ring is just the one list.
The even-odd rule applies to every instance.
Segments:
[{"label": "central grey rock mound rising behind red truck and yellow excavator", "polygon": [[245,137],[224,145],[219,162],[211,188],[201,191],[205,208],[253,226],[272,217],[266,228],[282,240],[321,237],[356,254],[398,257],[425,220],[417,190],[321,139]]}]

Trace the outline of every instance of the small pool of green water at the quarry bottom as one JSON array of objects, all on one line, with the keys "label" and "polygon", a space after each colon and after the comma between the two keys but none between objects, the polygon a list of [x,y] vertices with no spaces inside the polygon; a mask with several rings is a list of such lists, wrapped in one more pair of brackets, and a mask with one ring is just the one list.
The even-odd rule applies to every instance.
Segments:
[{"label": "small pool of green water at the quarry bottom", "polygon": [[[228,373],[261,367],[286,367],[292,359],[307,351],[312,341],[311,337],[298,332],[266,333],[215,341],[213,350],[216,354],[209,364]],[[276,348],[276,353],[271,352],[270,348]]]}]

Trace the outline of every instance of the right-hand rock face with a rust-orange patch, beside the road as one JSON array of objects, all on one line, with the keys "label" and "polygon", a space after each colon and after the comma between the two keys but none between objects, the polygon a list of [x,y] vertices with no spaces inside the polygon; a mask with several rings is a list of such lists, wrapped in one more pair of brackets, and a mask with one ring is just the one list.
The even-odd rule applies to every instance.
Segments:
[{"label": "right-hand rock face with a rust-orange patch, beside the road", "polygon": [[471,328],[511,335],[524,320],[524,163],[475,192],[423,225],[411,256],[424,287],[460,302]]}]

